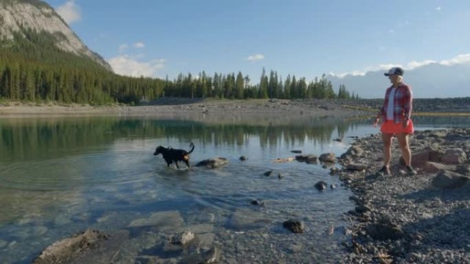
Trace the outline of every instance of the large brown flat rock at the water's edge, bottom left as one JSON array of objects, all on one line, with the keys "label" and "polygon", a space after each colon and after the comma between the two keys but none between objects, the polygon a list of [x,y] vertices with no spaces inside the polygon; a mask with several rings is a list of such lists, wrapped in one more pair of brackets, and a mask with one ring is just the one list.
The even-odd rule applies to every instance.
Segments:
[{"label": "large brown flat rock at the water's edge, bottom left", "polygon": [[87,230],[49,245],[33,264],[112,263],[127,238],[126,230],[112,234]]}]

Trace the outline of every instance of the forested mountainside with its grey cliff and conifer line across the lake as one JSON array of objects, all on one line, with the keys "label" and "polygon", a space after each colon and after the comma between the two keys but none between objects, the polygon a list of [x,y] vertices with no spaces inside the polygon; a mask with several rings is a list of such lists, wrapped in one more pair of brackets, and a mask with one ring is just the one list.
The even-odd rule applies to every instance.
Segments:
[{"label": "forested mountainside with its grey cliff and conifer line across the lake", "polygon": [[36,0],[0,2],[0,99],[58,101],[78,104],[137,104],[169,97],[350,98],[345,86],[335,93],[325,76],[304,77],[262,69],[260,80],[241,72],[183,74],[175,80],[128,77],[109,64],[71,31],[47,3]]}]

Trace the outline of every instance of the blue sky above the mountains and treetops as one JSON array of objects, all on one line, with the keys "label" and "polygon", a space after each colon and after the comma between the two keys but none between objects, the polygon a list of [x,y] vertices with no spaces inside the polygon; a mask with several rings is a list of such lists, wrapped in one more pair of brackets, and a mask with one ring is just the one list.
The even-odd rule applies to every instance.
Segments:
[{"label": "blue sky above the mountains and treetops", "polygon": [[47,0],[124,75],[262,68],[313,80],[429,62],[470,63],[470,1]]}]

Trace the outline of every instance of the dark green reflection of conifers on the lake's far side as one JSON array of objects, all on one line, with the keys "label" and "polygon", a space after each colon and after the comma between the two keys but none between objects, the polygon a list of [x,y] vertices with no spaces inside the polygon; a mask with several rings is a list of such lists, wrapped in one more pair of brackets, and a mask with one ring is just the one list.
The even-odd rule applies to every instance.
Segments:
[{"label": "dark green reflection of conifers on the lake's far side", "polygon": [[122,137],[197,139],[214,145],[244,145],[258,137],[261,147],[305,140],[324,143],[335,130],[343,137],[358,122],[363,121],[312,117],[295,123],[247,125],[119,117],[1,119],[0,160],[71,156]]}]

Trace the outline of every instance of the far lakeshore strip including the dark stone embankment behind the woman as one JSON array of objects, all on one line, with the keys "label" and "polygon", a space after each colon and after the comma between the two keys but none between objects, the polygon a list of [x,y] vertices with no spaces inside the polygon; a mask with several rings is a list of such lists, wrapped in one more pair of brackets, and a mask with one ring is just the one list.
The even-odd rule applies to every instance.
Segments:
[{"label": "far lakeshore strip including the dark stone embankment behind the woman", "polygon": [[[162,97],[143,101],[139,106],[88,106],[3,101],[0,116],[5,115],[375,115],[383,99],[203,99]],[[469,114],[470,97],[414,99],[415,112],[453,112]]]}]

